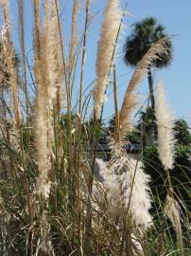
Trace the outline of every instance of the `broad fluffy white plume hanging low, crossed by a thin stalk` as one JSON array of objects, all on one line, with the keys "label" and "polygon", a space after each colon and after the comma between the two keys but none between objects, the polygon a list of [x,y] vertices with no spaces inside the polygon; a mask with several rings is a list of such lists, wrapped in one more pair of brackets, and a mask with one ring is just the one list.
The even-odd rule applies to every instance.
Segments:
[{"label": "broad fluffy white plume hanging low, crossed by a thin stalk", "polygon": [[148,210],[151,207],[148,181],[149,176],[143,171],[140,160],[127,155],[121,157],[114,166],[122,189],[122,203],[129,208],[130,215],[136,225],[145,230],[151,224]]}]

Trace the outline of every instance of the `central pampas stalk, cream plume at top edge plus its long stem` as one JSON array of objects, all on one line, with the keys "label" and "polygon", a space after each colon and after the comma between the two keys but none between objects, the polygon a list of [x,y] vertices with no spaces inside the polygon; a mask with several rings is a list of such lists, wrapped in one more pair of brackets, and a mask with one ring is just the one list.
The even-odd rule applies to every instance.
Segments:
[{"label": "central pampas stalk, cream plume at top edge plus its long stem", "polygon": [[[127,5],[126,5],[127,8]],[[126,9],[125,8],[125,9]],[[112,16],[110,16],[110,14]],[[115,14],[115,17],[114,15]],[[89,201],[88,201],[88,218],[87,218],[87,236],[91,233],[91,196],[93,187],[93,177],[94,169],[96,163],[96,147],[98,143],[98,137],[100,134],[100,125],[103,113],[103,101],[106,94],[107,82],[110,76],[110,71],[113,65],[113,59],[115,55],[116,44],[118,41],[118,36],[122,27],[123,17],[125,15],[125,10],[122,13],[118,8],[118,1],[108,1],[105,9],[105,18],[102,23],[100,39],[98,42],[97,54],[96,54],[96,84],[94,88],[94,126],[93,131],[93,141],[92,141],[92,174],[89,181]],[[111,20],[110,20],[111,19]],[[116,24],[109,26],[111,21],[115,19]],[[111,43],[109,41],[109,35],[113,40]],[[107,40],[108,36],[108,40]],[[110,42],[110,44],[109,44]],[[105,45],[104,45],[105,44]],[[109,46],[109,47],[108,47]],[[105,50],[104,50],[105,47]],[[103,55],[102,55],[103,54]],[[101,66],[103,69],[101,69]],[[103,71],[105,68],[105,72]],[[103,74],[104,72],[104,74]],[[98,121],[98,132],[97,132],[97,121]]]}]

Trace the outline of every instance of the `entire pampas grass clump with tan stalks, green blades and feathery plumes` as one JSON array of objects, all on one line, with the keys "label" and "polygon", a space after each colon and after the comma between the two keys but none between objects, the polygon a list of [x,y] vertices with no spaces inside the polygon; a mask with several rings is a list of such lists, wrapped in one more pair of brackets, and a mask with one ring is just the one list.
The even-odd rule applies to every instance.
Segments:
[{"label": "entire pampas grass clump with tan stalks, green blades and feathery plumes", "polygon": [[[163,55],[168,39],[153,44],[135,68],[119,115],[114,55],[127,3],[122,13],[122,2],[106,1],[95,51],[96,77],[90,78],[86,55],[89,45],[94,54],[94,44],[89,44],[89,28],[96,19],[92,1],[80,9],[78,0],[66,6],[59,0],[33,0],[33,29],[26,30],[27,1],[18,0],[20,44],[12,39],[9,12],[14,11],[9,7],[14,2],[0,0],[0,255],[170,255],[177,243],[170,230],[166,235],[165,214],[179,233],[182,249],[184,236],[189,236],[181,229],[181,200],[168,172],[174,137],[161,87],[156,116],[169,189],[163,216],[156,222],[149,213],[152,182],[144,171],[144,147],[142,153],[129,153],[122,144],[137,105],[134,89],[148,66]],[[33,50],[26,44],[30,31]],[[17,54],[14,43],[20,46]],[[112,68],[114,135],[101,117]],[[87,84],[89,79],[95,83]],[[99,152],[103,141],[107,145]]]}]

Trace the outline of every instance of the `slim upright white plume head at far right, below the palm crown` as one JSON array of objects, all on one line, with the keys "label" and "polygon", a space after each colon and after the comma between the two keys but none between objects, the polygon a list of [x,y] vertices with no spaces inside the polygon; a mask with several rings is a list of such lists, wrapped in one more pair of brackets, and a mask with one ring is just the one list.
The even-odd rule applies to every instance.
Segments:
[{"label": "slim upright white plume head at far right, below the palm crown", "polygon": [[175,138],[173,116],[165,99],[165,90],[159,82],[156,91],[155,114],[158,125],[158,151],[165,170],[173,168]]}]

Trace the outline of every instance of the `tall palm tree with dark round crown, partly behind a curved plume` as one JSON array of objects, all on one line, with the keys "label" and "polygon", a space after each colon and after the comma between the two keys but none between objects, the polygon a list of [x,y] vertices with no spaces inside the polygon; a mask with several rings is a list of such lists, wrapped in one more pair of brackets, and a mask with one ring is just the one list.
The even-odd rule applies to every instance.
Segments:
[{"label": "tall palm tree with dark round crown, partly behind a curved plume", "polygon": [[[156,41],[166,36],[165,27],[158,24],[154,17],[145,18],[143,21],[132,25],[133,29],[127,38],[124,46],[124,61],[127,65],[136,66],[141,61],[144,54]],[[159,58],[148,67],[148,87],[151,107],[154,109],[153,81],[151,67],[162,68],[171,63],[172,60],[172,43],[168,39],[166,50]]]}]

